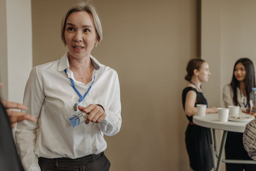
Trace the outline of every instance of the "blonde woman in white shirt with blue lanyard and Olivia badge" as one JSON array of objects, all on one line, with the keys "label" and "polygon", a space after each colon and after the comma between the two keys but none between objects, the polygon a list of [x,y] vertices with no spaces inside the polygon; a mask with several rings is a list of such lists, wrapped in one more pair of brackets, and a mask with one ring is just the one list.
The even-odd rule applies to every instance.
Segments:
[{"label": "blonde woman in white shirt with blue lanyard and Olivia badge", "polygon": [[68,10],[61,38],[68,52],[34,67],[27,81],[24,104],[37,122],[18,123],[19,156],[26,171],[107,171],[103,135],[120,130],[120,88],[117,72],[91,55],[102,29],[90,2]]}]

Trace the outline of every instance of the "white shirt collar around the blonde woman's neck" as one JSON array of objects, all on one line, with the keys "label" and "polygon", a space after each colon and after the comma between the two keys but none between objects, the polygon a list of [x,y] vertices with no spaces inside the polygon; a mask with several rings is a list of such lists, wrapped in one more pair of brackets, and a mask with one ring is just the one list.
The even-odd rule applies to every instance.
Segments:
[{"label": "white shirt collar around the blonde woman's neck", "polygon": [[[91,63],[95,70],[102,72],[102,65],[101,63],[92,55],[90,56]],[[68,60],[68,52],[64,54],[59,61],[59,68],[58,71],[64,71],[65,69],[69,70],[69,60]]]}]

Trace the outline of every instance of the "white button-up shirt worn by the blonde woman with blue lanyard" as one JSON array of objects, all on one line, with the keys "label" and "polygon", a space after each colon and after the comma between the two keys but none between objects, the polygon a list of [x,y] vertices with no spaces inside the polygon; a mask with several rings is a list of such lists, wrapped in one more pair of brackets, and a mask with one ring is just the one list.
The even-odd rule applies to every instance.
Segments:
[{"label": "white button-up shirt worn by the blonde woman with blue lanyard", "polygon": [[119,132],[122,119],[118,75],[93,56],[90,58],[95,81],[79,105],[102,105],[106,117],[99,124],[83,123],[73,128],[68,121],[77,112],[73,104],[79,99],[69,77],[81,95],[92,84],[92,81],[85,85],[75,80],[73,72],[69,70],[68,53],[60,60],[31,70],[23,101],[28,110],[23,112],[33,115],[37,122],[19,122],[16,131],[16,143],[25,170],[40,171],[38,157],[74,159],[99,154],[107,146],[103,134],[113,136]]}]

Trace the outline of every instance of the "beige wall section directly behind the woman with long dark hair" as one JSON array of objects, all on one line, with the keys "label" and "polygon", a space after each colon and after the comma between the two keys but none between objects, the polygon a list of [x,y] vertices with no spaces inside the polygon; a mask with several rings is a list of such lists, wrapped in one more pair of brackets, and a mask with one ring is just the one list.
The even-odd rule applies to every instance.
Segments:
[{"label": "beige wall section directly behind the woman with long dark hair", "polygon": [[[230,5],[233,4],[233,5]],[[230,83],[234,63],[250,58],[256,67],[255,0],[223,0],[221,20],[221,86]],[[230,65],[225,65],[230,64]]]}]

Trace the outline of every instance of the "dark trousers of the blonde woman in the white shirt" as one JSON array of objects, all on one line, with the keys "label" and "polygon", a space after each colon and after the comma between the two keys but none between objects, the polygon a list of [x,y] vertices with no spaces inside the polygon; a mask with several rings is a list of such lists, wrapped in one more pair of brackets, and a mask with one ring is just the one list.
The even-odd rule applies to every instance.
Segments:
[{"label": "dark trousers of the blonde woman in the white shirt", "polygon": [[110,162],[104,152],[81,158],[44,158],[38,159],[41,171],[109,171]]}]

